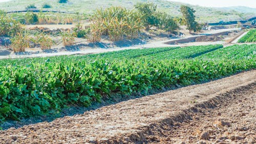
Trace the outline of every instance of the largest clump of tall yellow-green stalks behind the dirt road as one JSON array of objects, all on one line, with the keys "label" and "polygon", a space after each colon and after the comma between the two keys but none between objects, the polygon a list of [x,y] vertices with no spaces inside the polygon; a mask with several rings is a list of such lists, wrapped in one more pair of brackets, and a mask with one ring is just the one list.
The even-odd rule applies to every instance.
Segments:
[{"label": "largest clump of tall yellow-green stalks behind the dirt road", "polygon": [[102,35],[108,35],[112,41],[134,39],[142,28],[143,22],[135,10],[123,7],[98,9],[91,17],[91,35],[88,40],[98,42]]}]

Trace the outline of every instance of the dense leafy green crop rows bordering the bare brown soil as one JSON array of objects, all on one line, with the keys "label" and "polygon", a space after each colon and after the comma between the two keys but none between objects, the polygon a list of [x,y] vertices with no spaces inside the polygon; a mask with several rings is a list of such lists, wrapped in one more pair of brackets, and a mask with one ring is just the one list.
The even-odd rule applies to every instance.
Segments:
[{"label": "dense leafy green crop rows bordering the bare brown soil", "polygon": [[[255,49],[251,46],[255,44],[224,47],[210,52],[210,56],[202,54],[201,58],[195,53],[195,58],[188,54],[178,59],[152,59],[154,54],[141,53],[142,57],[129,59],[119,52],[119,59],[96,56],[91,62],[86,56],[80,60],[75,56],[54,57],[44,62],[41,60],[45,58],[27,59],[21,65],[15,63],[18,60],[9,60],[13,64],[0,66],[0,119],[18,121],[20,117],[45,114],[67,105],[90,106],[114,94],[145,95],[151,89],[186,86],[255,69]],[[232,53],[238,48],[250,52],[238,57]],[[212,60],[214,57],[216,60]]]}]

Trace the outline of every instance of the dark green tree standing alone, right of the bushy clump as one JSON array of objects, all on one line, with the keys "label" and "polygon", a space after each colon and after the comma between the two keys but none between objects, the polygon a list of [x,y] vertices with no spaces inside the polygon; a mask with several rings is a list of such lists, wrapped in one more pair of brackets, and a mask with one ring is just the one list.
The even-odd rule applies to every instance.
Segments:
[{"label": "dark green tree standing alone, right of the bushy clump", "polygon": [[184,18],[184,23],[187,26],[187,29],[189,30],[189,33],[191,33],[191,31],[198,31],[200,30],[200,25],[198,25],[196,19],[196,16],[194,15],[194,13],[196,12],[193,8],[190,8],[188,6],[184,6],[182,5],[180,7],[180,11],[183,15]]}]

